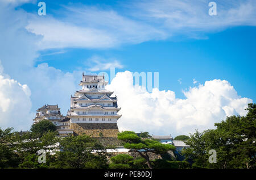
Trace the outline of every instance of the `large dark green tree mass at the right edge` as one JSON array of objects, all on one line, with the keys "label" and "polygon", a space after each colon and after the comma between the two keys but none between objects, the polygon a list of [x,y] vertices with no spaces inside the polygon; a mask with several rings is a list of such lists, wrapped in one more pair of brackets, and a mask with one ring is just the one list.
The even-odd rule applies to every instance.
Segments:
[{"label": "large dark green tree mass at the right edge", "polygon": [[[201,168],[255,168],[255,130],[256,105],[248,104],[247,115],[230,116],[221,123],[214,124],[216,129],[190,136],[183,149],[186,160]],[[217,152],[217,163],[210,164],[210,149]]]}]

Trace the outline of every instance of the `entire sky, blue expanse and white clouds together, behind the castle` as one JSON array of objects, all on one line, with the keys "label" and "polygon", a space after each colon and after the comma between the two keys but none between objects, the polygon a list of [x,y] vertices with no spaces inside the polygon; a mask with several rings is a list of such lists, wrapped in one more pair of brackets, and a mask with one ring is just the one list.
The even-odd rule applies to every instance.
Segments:
[{"label": "entire sky, blue expanse and white clouds together, behind the castle", "polygon": [[[217,16],[208,14],[207,0],[44,1],[46,16],[38,15],[38,2],[0,3],[3,127],[28,128],[36,109],[47,103],[58,103],[65,115],[81,73],[109,73],[109,67],[120,73],[109,88],[120,99],[121,129],[178,134],[212,128],[228,115],[244,115],[246,104],[255,102],[255,1],[214,1]],[[126,70],[159,72],[159,91],[118,89],[121,77],[129,84]],[[140,130],[131,124],[138,119],[129,116],[133,109],[126,99],[139,94],[143,98],[133,104],[146,106],[141,117],[153,108],[175,112],[152,114],[144,123],[157,128]],[[20,111],[24,102],[24,123],[8,123],[16,116],[5,107]],[[163,128],[168,125],[176,128]]]}]

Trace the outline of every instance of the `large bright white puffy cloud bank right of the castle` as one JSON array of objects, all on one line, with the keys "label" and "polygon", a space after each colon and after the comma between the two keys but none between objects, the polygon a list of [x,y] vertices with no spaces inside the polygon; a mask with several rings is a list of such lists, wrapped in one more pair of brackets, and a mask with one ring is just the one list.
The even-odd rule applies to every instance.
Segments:
[{"label": "large bright white puffy cloud bank right of the castle", "polygon": [[220,79],[191,87],[184,91],[185,99],[176,98],[171,90],[154,88],[148,93],[143,86],[133,86],[129,71],[117,73],[106,88],[114,91],[121,106],[122,118],[118,120],[121,131],[148,131],[155,135],[188,135],[195,129],[214,128],[214,123],[226,116],[246,115],[245,108],[252,102],[240,97],[228,81]]}]

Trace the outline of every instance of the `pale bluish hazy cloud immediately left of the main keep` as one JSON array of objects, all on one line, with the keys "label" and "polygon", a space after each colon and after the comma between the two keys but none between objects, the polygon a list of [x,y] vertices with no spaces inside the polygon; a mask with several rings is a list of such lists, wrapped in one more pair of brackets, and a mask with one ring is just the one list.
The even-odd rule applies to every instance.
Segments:
[{"label": "pale bluish hazy cloud immediately left of the main keep", "polygon": [[61,113],[66,115],[71,94],[79,89],[82,72],[63,72],[43,63],[31,68],[22,76],[32,91],[33,110],[44,104],[59,104]]}]

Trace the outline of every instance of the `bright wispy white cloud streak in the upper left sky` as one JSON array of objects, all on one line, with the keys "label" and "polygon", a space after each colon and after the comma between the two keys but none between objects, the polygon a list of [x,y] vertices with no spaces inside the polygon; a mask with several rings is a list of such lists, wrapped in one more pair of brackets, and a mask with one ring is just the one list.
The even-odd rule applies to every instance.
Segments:
[{"label": "bright wispy white cloud streak in the upper left sky", "polygon": [[[90,6],[63,6],[55,18],[30,16],[29,32],[42,36],[38,47],[49,48],[113,48],[122,44],[163,39],[166,34],[143,22],[131,20],[113,10]],[[59,12],[60,13],[60,12]]]}]

